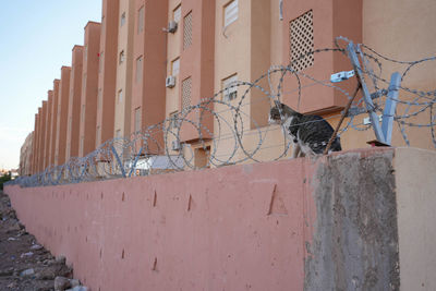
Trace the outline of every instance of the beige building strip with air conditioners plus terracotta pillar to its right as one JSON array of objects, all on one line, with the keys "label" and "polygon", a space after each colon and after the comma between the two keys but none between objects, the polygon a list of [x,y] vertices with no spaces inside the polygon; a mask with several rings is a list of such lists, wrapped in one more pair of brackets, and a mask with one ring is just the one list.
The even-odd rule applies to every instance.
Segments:
[{"label": "beige building strip with air conditioners plus terracotta pillar to its right", "polygon": [[[213,132],[213,116],[203,110],[186,114],[187,109],[214,95],[215,75],[215,17],[216,1],[169,1],[168,23],[177,23],[177,29],[168,33],[166,117],[170,120],[182,118],[179,138],[167,136],[166,147],[170,153],[181,149],[181,144],[191,148],[185,154],[194,153],[195,166],[204,166],[208,140]],[[168,25],[170,26],[170,25]],[[175,80],[174,85],[170,84]],[[202,118],[202,129],[192,126]],[[193,122],[193,123],[191,123]],[[169,124],[174,126],[172,122]],[[198,142],[199,135],[202,142]],[[190,157],[192,159],[193,157]]]}]

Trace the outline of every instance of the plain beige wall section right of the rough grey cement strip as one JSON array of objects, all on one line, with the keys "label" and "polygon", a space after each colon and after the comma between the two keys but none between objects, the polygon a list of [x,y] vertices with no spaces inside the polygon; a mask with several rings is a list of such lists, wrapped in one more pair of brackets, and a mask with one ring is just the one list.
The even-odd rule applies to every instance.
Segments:
[{"label": "plain beige wall section right of the rough grey cement strip", "polygon": [[401,288],[436,290],[436,155],[398,148],[395,170]]}]

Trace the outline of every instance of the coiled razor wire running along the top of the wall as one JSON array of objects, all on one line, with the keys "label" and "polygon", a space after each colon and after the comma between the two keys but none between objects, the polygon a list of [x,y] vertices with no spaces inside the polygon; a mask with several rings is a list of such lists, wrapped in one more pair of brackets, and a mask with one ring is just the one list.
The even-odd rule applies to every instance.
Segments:
[{"label": "coiled razor wire running along the top of the wall", "polygon": [[[352,100],[351,94],[344,89],[344,86],[330,82],[330,74],[336,72],[326,72],[325,78],[318,80],[295,69],[298,62],[314,54],[339,53],[347,58],[346,47],[349,43],[349,39],[338,37],[335,39],[334,48],[303,53],[287,66],[272,65],[253,82],[234,81],[214,96],[182,108],[181,112],[158,124],[129,137],[107,141],[85,157],[73,157],[64,165],[50,166],[43,172],[31,177],[20,177],[10,183],[21,186],[58,185],[262,162],[289,157],[293,142],[286,134],[286,129],[267,123],[270,108],[277,101],[292,100],[296,101],[296,110],[300,110],[302,101],[306,101],[305,98],[307,98],[304,94],[305,89],[314,86],[318,86],[320,93],[337,94]],[[404,84],[412,69],[435,61],[436,57],[417,61],[398,61],[363,44],[358,45],[356,48],[362,60],[363,81],[374,95],[374,109],[382,112],[383,118],[393,117],[407,145],[410,145],[407,128],[429,128],[429,136],[436,147],[434,128],[436,117],[433,108],[436,102],[436,88],[427,92],[403,85],[389,88],[388,77],[383,74],[388,71],[383,69],[391,68],[391,63],[403,65],[400,74]],[[351,62],[350,69],[352,69]],[[311,72],[314,70],[316,66]],[[316,75],[319,73],[317,72]],[[286,86],[287,82],[296,85],[289,88],[289,85]],[[262,86],[262,84],[267,84],[267,86]],[[400,93],[396,100],[399,107],[393,116],[383,113],[391,89],[398,89]],[[237,92],[234,99],[230,98],[233,97],[230,95],[231,92]],[[359,114],[367,113],[364,105],[362,96],[352,101],[352,107],[359,109],[358,113],[348,116],[338,135],[343,135],[350,130],[362,132],[372,128],[371,123],[356,119]],[[263,111],[258,112],[256,109],[254,114],[252,109],[259,106]],[[337,111],[325,120],[339,119],[344,113],[348,112]],[[428,122],[416,123],[415,119],[420,116],[424,116],[420,122],[423,120]],[[296,125],[302,124],[304,123]]]}]

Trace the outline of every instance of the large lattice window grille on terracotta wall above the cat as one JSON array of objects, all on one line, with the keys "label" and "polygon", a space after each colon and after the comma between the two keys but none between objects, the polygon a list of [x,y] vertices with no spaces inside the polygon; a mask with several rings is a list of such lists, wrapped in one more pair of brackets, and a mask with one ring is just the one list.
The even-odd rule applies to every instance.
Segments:
[{"label": "large lattice window grille on terracotta wall above the cat", "polygon": [[291,64],[302,71],[314,64],[313,11],[310,10],[290,23]]}]

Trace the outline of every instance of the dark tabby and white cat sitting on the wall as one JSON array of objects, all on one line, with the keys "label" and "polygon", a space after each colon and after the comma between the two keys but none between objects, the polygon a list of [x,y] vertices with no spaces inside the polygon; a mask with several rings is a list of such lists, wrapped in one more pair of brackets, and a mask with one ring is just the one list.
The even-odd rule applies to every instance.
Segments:
[{"label": "dark tabby and white cat sitting on the wall", "polygon": [[[301,114],[280,102],[276,102],[269,111],[269,123],[283,126],[286,134],[293,142],[293,158],[323,154],[334,134],[334,129],[324,118]],[[337,136],[328,153],[340,150],[342,150],[340,138]]]}]

